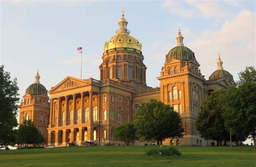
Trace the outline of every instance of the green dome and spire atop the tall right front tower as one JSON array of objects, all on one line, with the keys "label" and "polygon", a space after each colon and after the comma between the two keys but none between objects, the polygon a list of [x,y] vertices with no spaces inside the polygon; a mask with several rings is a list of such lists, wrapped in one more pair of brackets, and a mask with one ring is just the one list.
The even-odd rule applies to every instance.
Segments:
[{"label": "green dome and spire atop the tall right front tower", "polygon": [[183,44],[183,36],[179,30],[178,35],[176,37],[177,46],[173,47],[169,53],[166,55],[165,62],[170,61],[171,59],[183,60],[183,61],[190,61],[196,60],[194,57],[194,52],[191,51],[190,48],[184,46]]}]

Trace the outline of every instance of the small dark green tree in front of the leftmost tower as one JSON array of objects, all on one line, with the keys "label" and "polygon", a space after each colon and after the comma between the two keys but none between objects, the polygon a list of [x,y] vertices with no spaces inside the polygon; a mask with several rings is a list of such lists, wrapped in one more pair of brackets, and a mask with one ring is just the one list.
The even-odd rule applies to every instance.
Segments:
[{"label": "small dark green tree in front of the leftmost tower", "polygon": [[19,125],[17,141],[18,144],[25,144],[25,147],[28,148],[29,144],[43,143],[44,137],[31,120],[25,120]]}]

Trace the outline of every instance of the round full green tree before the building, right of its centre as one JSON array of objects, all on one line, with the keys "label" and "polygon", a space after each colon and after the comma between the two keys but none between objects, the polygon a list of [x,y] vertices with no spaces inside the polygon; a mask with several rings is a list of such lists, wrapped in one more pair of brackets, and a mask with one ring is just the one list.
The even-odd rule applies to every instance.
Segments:
[{"label": "round full green tree before the building, right of its centre", "polygon": [[174,112],[173,107],[154,99],[139,107],[134,124],[138,137],[157,141],[158,145],[166,138],[182,137],[180,115]]}]

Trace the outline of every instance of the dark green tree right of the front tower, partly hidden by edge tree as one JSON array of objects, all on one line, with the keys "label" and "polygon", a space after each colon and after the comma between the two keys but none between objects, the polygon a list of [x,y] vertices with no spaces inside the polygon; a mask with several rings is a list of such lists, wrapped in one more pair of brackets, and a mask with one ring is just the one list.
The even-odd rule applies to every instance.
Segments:
[{"label": "dark green tree right of the front tower, partly hidden by edge tree", "polygon": [[198,113],[197,129],[206,140],[215,140],[218,145],[228,140],[229,131],[226,130],[222,113],[225,110],[223,96],[225,90],[214,91],[207,96]]}]

